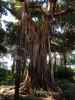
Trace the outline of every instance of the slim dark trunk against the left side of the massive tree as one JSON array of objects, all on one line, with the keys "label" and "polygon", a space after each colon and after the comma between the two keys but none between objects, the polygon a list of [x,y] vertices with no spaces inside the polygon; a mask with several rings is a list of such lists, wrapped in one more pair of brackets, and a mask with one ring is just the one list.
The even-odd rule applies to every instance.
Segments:
[{"label": "slim dark trunk against the left side of the massive tree", "polygon": [[16,75],[15,75],[15,100],[19,99],[19,87],[20,87],[20,70],[21,70],[21,34],[18,34],[19,27],[17,30],[17,41],[16,41]]}]

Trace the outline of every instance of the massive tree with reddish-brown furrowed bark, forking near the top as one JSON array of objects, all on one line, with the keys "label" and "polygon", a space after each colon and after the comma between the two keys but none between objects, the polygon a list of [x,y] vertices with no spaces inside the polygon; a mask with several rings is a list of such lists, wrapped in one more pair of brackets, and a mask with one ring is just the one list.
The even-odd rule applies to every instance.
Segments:
[{"label": "massive tree with reddish-brown furrowed bark, forking near the top", "polygon": [[[54,34],[54,37],[56,36],[56,33],[52,32],[52,25],[54,25],[56,21],[58,23],[57,16],[61,19],[61,16],[65,16],[65,14],[71,11],[68,7],[66,10],[63,10],[62,5],[60,9],[58,9],[56,4],[57,0],[49,0],[47,6],[47,8],[51,7],[48,9],[49,11],[47,11],[47,8],[42,9],[38,2],[30,3],[24,1],[22,5],[22,18],[17,34],[16,97],[19,95],[20,75],[24,73],[27,59],[30,59],[30,65],[28,66],[27,77],[23,83],[23,87],[20,88],[22,92],[26,91],[26,87],[27,90],[29,90],[28,92],[31,92],[30,87],[47,90],[52,88],[52,84],[55,82],[54,68],[51,64],[51,51],[55,47],[54,52],[58,50],[58,52],[63,53],[65,47],[62,45],[62,51],[61,43],[57,46],[55,45],[56,42],[54,47],[51,44],[52,35]],[[38,19],[36,22],[32,21],[35,17]],[[58,34],[58,37],[60,37],[60,34]],[[60,40],[63,41],[62,44],[65,44],[66,37],[65,40],[63,40],[62,36]],[[47,64],[47,54],[50,56],[50,66]],[[27,85],[29,85],[29,87]]]}]

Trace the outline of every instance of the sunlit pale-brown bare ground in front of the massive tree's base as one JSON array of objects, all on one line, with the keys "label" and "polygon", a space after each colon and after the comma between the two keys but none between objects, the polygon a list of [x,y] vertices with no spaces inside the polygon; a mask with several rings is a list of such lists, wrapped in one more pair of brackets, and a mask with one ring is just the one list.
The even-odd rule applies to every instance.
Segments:
[{"label": "sunlit pale-brown bare ground in front of the massive tree's base", "polygon": [[[14,100],[14,86],[1,85],[0,100]],[[54,99],[52,95],[48,97],[20,95],[20,100],[56,100],[56,99]]]}]

